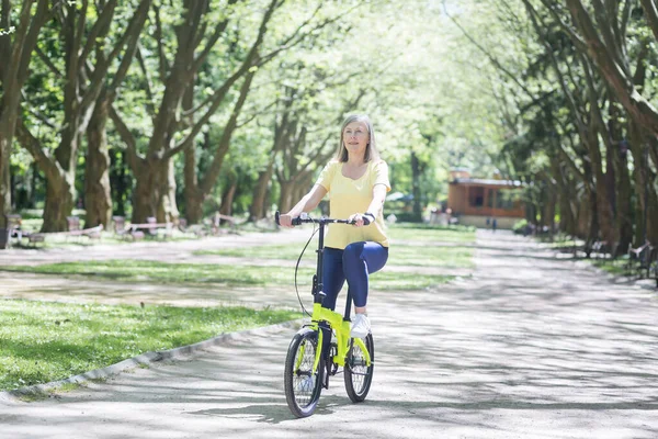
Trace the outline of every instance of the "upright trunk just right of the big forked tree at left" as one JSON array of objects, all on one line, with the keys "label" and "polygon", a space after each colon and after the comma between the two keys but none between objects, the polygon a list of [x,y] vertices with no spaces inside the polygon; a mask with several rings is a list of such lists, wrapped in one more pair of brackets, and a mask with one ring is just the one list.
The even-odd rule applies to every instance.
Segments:
[{"label": "upright trunk just right of the big forked tree at left", "polygon": [[112,196],[110,190],[110,154],[107,151],[107,105],[99,99],[87,127],[87,160],[84,168],[84,207],[86,227],[100,224],[110,225],[112,217]]}]

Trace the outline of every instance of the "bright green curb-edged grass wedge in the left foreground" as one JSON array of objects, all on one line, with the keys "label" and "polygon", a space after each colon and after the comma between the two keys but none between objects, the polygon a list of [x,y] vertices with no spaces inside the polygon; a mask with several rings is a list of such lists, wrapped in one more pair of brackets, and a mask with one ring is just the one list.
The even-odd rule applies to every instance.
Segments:
[{"label": "bright green curb-edged grass wedge in the left foreground", "polygon": [[300,317],[292,311],[0,301],[0,391]]}]

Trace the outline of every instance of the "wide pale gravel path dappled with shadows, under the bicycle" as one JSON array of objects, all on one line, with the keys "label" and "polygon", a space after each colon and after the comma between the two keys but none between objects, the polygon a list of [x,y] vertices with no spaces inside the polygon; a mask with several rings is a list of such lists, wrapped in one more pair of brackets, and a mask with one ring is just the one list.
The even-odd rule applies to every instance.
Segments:
[{"label": "wide pale gravel path dappled with shadows, under the bicycle", "polygon": [[363,404],[337,375],[317,413],[293,419],[285,329],[47,401],[0,403],[0,437],[658,437],[655,291],[511,234],[477,239],[470,279],[373,292],[376,368]]}]

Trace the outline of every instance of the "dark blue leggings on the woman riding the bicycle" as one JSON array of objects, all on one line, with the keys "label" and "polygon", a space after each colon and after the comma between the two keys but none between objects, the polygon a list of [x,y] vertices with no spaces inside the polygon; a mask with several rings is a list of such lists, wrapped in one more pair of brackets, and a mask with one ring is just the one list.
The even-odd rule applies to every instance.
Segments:
[{"label": "dark blue leggings on the woman riding the bicycle", "polygon": [[344,250],[325,248],[322,283],[327,296],[322,306],[336,308],[336,299],[345,280],[354,306],[367,303],[367,275],[381,270],[388,259],[388,248],[377,243],[352,243]]}]

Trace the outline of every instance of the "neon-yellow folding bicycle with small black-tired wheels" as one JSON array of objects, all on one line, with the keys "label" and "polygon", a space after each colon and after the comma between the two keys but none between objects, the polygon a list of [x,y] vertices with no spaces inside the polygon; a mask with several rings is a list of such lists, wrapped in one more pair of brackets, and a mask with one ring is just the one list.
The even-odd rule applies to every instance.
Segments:
[{"label": "neon-yellow folding bicycle with small black-tired wheels", "polygon": [[[276,212],[276,224],[280,224],[279,216],[280,213]],[[303,223],[317,224],[319,235],[318,249],[316,250],[317,268],[311,286],[314,302],[310,323],[299,329],[291,340],[284,368],[285,398],[291,412],[299,418],[314,414],[322,387],[329,389],[329,376],[336,375],[339,368],[342,368],[345,391],[350,399],[353,403],[363,402],[373,381],[375,360],[375,346],[372,334],[368,334],[365,339],[350,337],[352,297],[349,291],[343,315],[322,307],[322,299],[326,296],[322,292],[325,226],[332,223],[353,223],[347,219],[326,217],[314,219],[308,215],[302,215],[293,219],[293,225]],[[367,225],[367,223],[365,224]],[[308,246],[308,243],[306,245]],[[302,250],[302,254],[304,254],[304,250]],[[302,256],[299,256],[300,259]],[[299,260],[297,261],[297,268]],[[304,308],[304,305],[302,307]],[[322,330],[320,323],[325,323],[325,330]],[[324,340],[325,334],[332,333],[336,340],[326,344]],[[327,346],[322,349],[325,345]]]}]

